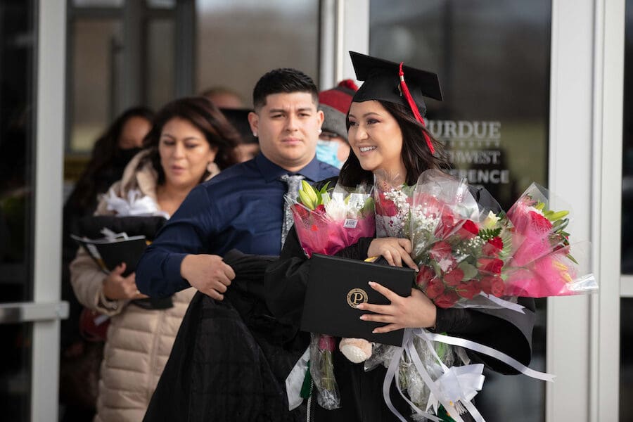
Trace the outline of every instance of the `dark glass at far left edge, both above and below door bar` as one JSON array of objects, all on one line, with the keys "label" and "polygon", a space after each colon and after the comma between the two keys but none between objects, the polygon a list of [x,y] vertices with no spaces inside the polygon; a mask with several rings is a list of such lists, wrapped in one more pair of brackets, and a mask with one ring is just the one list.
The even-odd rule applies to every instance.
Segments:
[{"label": "dark glass at far left edge, both above and below door bar", "polygon": [[[0,4],[0,303],[32,300],[34,1]],[[0,321],[0,419],[30,420],[32,324]]]}]

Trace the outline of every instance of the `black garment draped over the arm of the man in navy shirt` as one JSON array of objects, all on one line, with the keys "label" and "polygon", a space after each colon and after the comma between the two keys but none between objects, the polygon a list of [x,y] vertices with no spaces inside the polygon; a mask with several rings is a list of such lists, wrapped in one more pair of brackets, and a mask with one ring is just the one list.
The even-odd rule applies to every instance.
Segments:
[{"label": "black garment draped over the arm of the man in navy shirt", "polygon": [[285,381],[309,338],[283,341],[257,298],[275,259],[224,255],[236,278],[220,302],[193,296],[144,422],[305,421],[305,405],[288,411]]}]

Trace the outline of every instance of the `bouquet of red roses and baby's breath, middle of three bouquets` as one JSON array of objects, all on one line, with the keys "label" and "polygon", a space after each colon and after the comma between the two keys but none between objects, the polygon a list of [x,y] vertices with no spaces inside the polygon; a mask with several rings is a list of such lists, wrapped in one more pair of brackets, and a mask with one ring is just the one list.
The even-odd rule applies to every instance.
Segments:
[{"label": "bouquet of red roses and baby's breath, middle of three bouquets", "polygon": [[516,248],[511,224],[480,206],[465,180],[438,170],[421,174],[411,200],[416,285],[435,305],[510,307],[501,273]]}]

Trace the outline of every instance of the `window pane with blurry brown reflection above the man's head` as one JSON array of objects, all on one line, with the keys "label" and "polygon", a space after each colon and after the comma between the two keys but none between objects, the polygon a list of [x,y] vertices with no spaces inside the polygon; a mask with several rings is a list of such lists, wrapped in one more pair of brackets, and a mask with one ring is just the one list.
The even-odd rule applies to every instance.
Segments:
[{"label": "window pane with blurry brown reflection above the man's head", "polygon": [[197,92],[229,88],[250,106],[252,87],[271,69],[319,80],[318,0],[197,0],[196,19]]}]

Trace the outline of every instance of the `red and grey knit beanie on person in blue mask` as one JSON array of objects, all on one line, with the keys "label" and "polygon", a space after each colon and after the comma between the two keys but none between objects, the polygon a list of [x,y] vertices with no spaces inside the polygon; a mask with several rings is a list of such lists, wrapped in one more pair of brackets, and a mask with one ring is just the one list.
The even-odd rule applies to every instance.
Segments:
[{"label": "red and grey knit beanie on person in blue mask", "polygon": [[323,110],[325,120],[322,129],[333,132],[345,138],[347,141],[347,128],[345,116],[350,110],[352,96],[358,90],[352,79],[344,79],[338,86],[319,93],[319,110]]}]

